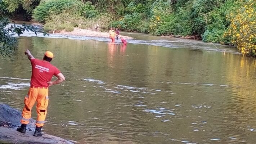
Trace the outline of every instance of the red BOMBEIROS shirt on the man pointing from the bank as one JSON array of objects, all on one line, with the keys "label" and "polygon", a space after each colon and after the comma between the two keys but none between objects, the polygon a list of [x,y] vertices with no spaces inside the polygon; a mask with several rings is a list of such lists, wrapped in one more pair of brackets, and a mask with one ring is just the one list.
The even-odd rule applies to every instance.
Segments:
[{"label": "red BOMBEIROS shirt on the man pointing from the bank", "polygon": [[49,62],[45,62],[39,59],[31,59],[32,76],[30,86],[35,87],[48,87],[48,81],[51,78],[57,76],[60,71],[57,67],[54,67]]}]

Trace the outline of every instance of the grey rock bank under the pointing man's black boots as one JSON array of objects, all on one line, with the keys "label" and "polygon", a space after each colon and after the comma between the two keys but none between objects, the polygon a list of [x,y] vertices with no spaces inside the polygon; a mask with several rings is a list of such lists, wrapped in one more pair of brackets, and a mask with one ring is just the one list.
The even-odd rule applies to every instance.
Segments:
[{"label": "grey rock bank under the pointing man's black boots", "polygon": [[42,137],[33,136],[35,120],[31,118],[26,134],[16,131],[20,125],[21,112],[6,104],[0,104],[0,144],[73,144],[57,136],[43,134]]}]

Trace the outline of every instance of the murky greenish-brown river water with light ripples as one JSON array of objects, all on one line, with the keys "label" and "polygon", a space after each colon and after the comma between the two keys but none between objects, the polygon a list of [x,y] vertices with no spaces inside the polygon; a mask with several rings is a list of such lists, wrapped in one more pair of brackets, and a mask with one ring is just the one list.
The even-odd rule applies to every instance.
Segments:
[{"label": "murky greenish-brown river water with light ripples", "polygon": [[0,102],[23,108],[31,76],[24,49],[39,59],[50,50],[66,81],[50,87],[46,133],[80,144],[255,143],[254,58],[199,41],[125,35],[135,37],[127,47],[27,33],[13,62],[0,58]]}]

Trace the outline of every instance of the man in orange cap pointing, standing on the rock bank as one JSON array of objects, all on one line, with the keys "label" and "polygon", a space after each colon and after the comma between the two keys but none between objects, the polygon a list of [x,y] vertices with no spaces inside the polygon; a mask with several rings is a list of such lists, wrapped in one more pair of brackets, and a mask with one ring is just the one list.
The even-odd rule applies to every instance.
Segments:
[{"label": "man in orange cap pointing, standing on the rock bank", "polygon": [[[35,102],[37,102],[36,130],[33,136],[42,136],[41,128],[44,126],[49,102],[48,87],[65,81],[65,77],[58,68],[50,64],[53,59],[53,53],[50,51],[45,52],[43,60],[35,59],[27,49],[25,54],[31,62],[32,75],[30,89],[24,99],[25,106],[22,111],[21,127],[19,127],[17,131],[26,133],[26,127],[31,118],[31,109]],[[51,81],[53,75],[58,79]]]}]

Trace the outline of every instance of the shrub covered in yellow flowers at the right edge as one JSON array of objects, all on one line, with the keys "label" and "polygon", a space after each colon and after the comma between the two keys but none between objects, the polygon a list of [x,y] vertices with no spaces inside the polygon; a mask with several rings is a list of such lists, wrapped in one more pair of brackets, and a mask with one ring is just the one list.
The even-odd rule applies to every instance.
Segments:
[{"label": "shrub covered in yellow flowers at the right edge", "polygon": [[244,1],[243,7],[229,16],[231,23],[223,39],[229,38],[243,55],[256,57],[256,1]]}]

